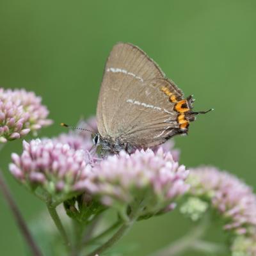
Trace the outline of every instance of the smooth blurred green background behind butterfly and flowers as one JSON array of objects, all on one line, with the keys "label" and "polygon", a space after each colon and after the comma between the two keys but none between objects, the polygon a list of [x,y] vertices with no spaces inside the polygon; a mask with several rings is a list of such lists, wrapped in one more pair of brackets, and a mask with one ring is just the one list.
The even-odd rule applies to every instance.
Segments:
[{"label": "smooth blurred green background behind butterfly and flowers", "polygon": [[[175,142],[186,166],[214,164],[255,186],[256,1],[0,1],[0,86],[41,95],[54,125],[40,136],[63,132],[95,114],[104,63],[113,44],[131,42],[148,53],[195,109],[214,108]],[[1,168],[26,220],[44,205]],[[12,214],[0,198],[1,255],[26,255]],[[130,255],[148,253],[189,230],[177,212],[137,223],[121,241]],[[218,228],[220,230],[220,227]],[[218,239],[218,229],[209,236]],[[214,237],[215,236],[215,237]],[[137,242],[134,243],[134,241]],[[185,255],[185,254],[184,254]],[[186,256],[199,255],[189,252]]]}]

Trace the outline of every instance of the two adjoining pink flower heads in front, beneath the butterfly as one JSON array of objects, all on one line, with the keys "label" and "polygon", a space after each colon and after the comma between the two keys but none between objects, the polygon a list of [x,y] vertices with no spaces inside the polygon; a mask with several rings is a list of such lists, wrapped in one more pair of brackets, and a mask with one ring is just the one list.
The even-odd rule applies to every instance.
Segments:
[{"label": "two adjoining pink flower heads in front, beneath the butterfly", "polygon": [[108,206],[122,205],[122,209],[140,202],[140,216],[170,211],[175,198],[189,189],[188,170],[163,148],[95,159],[90,147],[88,135],[76,132],[52,140],[24,141],[21,156],[12,154],[10,172],[52,198],[61,195],[65,200],[77,191]]}]

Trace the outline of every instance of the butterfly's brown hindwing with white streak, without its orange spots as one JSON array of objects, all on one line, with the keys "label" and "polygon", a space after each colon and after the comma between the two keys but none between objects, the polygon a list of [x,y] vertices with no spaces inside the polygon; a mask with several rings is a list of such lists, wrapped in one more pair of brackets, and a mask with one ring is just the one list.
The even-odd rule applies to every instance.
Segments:
[{"label": "butterfly's brown hindwing with white streak, without its orange spots", "polygon": [[[170,102],[162,88],[174,92],[172,83],[166,79],[155,79],[140,93],[131,93],[126,100],[125,121],[129,129],[120,137],[132,145],[153,147],[164,143],[180,132],[178,113],[173,111],[175,103]],[[177,93],[176,93],[177,95]],[[180,95],[181,96],[181,95]],[[177,96],[179,97],[179,96]]]}]

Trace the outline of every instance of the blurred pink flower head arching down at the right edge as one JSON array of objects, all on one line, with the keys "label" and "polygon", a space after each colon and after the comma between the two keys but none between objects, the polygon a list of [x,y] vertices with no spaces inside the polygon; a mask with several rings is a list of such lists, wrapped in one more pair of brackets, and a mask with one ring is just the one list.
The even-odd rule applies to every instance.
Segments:
[{"label": "blurred pink flower head arching down at the right edge", "polygon": [[227,172],[213,167],[192,169],[189,193],[207,198],[226,220],[225,230],[250,234],[256,227],[256,196],[252,188]]}]

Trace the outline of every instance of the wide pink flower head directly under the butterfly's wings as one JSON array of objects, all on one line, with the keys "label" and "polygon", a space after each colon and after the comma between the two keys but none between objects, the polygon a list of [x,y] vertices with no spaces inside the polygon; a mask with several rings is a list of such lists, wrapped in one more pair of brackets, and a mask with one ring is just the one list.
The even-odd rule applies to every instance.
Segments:
[{"label": "wide pink flower head directly under the butterfly's wings", "polygon": [[175,198],[188,191],[187,176],[188,170],[159,148],[156,153],[148,149],[109,156],[77,186],[88,189],[103,204],[116,207],[121,215],[136,205],[143,218],[173,209]]}]

